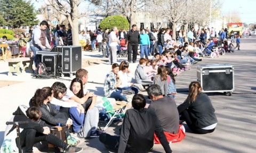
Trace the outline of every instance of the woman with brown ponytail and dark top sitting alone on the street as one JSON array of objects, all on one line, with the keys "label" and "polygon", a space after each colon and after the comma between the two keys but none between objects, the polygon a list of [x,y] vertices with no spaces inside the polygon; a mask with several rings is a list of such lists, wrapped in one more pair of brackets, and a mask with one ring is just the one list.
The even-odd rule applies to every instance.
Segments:
[{"label": "woman with brown ponytail and dark top sitting alone on the street", "polygon": [[178,106],[180,120],[185,120],[189,129],[198,134],[211,133],[217,126],[217,117],[210,98],[202,92],[201,84],[189,84],[189,95]]}]

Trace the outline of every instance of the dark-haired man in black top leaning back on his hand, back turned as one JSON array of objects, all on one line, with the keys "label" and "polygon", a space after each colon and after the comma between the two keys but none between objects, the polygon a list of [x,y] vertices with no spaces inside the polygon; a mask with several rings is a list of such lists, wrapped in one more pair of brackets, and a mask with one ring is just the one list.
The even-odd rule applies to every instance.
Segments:
[{"label": "dark-haired man in black top leaning back on his hand, back turned", "polygon": [[172,152],[155,112],[152,109],[144,108],[145,106],[145,97],[141,94],[134,95],[132,98],[134,109],[127,109],[120,137],[102,133],[100,141],[111,149],[117,149],[119,145],[118,152],[121,153],[150,152],[154,146],[155,133],[165,152]]}]

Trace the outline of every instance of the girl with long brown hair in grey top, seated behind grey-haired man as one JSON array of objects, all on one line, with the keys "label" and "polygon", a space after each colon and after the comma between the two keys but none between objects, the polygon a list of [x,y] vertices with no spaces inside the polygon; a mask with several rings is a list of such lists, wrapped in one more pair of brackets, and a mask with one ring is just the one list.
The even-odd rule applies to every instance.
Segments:
[{"label": "girl with long brown hair in grey top, seated behind grey-haired man", "polygon": [[154,77],[152,84],[158,84],[161,87],[163,95],[167,96],[168,88],[167,88],[167,74],[164,65],[158,66],[157,74]]}]

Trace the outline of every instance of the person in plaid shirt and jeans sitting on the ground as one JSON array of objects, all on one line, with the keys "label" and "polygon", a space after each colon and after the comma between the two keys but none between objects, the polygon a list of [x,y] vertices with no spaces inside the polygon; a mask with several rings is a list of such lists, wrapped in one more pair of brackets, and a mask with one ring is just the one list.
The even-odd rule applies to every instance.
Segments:
[{"label": "person in plaid shirt and jeans sitting on the ground", "polygon": [[104,81],[104,95],[106,97],[114,98],[120,101],[126,101],[125,95],[122,94],[122,90],[118,90],[119,86],[121,86],[122,81],[119,79],[119,65],[114,63],[112,65],[112,71],[110,71],[105,78]]}]

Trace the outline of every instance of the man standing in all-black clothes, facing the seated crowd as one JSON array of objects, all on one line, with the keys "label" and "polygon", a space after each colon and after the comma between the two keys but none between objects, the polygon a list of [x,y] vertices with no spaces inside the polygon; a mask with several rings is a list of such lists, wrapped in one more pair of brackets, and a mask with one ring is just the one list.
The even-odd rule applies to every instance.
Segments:
[{"label": "man standing in all-black clothes, facing the seated crowd", "polygon": [[136,25],[132,25],[132,29],[127,32],[125,44],[128,41],[128,62],[135,63],[137,60],[138,45],[140,40],[140,33],[136,30]]}]

